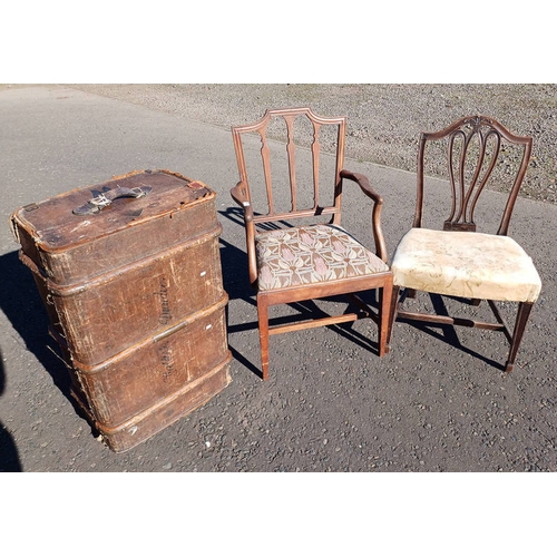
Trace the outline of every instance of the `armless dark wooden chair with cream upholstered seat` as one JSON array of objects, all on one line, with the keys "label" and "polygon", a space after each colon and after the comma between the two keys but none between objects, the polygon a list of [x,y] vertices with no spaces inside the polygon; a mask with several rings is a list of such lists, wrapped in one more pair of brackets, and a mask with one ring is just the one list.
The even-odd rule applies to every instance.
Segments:
[{"label": "armless dark wooden chair with cream upholstered seat", "polygon": [[[400,241],[391,263],[394,289],[389,338],[397,319],[423,321],[428,326],[437,323],[500,331],[510,344],[505,370],[512,370],[528,316],[541,289],[531,258],[507,235],[531,147],[531,137],[516,136],[486,116],[462,118],[441,131],[421,135],[414,221]],[[450,186],[450,195],[447,195],[449,214],[442,229],[424,225],[424,172],[429,160],[436,158],[426,156],[431,153],[446,160],[448,180],[431,180],[434,184],[430,184],[428,192],[447,183]],[[489,232],[476,232],[476,213],[487,221],[495,214],[492,204],[481,211],[478,204],[488,183],[495,189],[508,192],[507,197],[498,196],[505,203],[501,204],[502,216],[495,218],[495,226],[498,225],[495,234],[495,227]],[[429,218],[432,212],[442,216],[438,211],[438,199],[428,207]],[[442,300],[467,301],[475,306],[487,301],[495,320],[480,320],[476,314],[468,319],[468,313],[467,317],[451,316],[446,306],[440,306],[441,312],[410,311],[410,302],[405,300],[417,299],[419,291],[444,296]],[[500,302],[512,302],[511,307],[518,305],[512,331],[506,324]],[[412,303],[417,305],[419,300]]]}]

